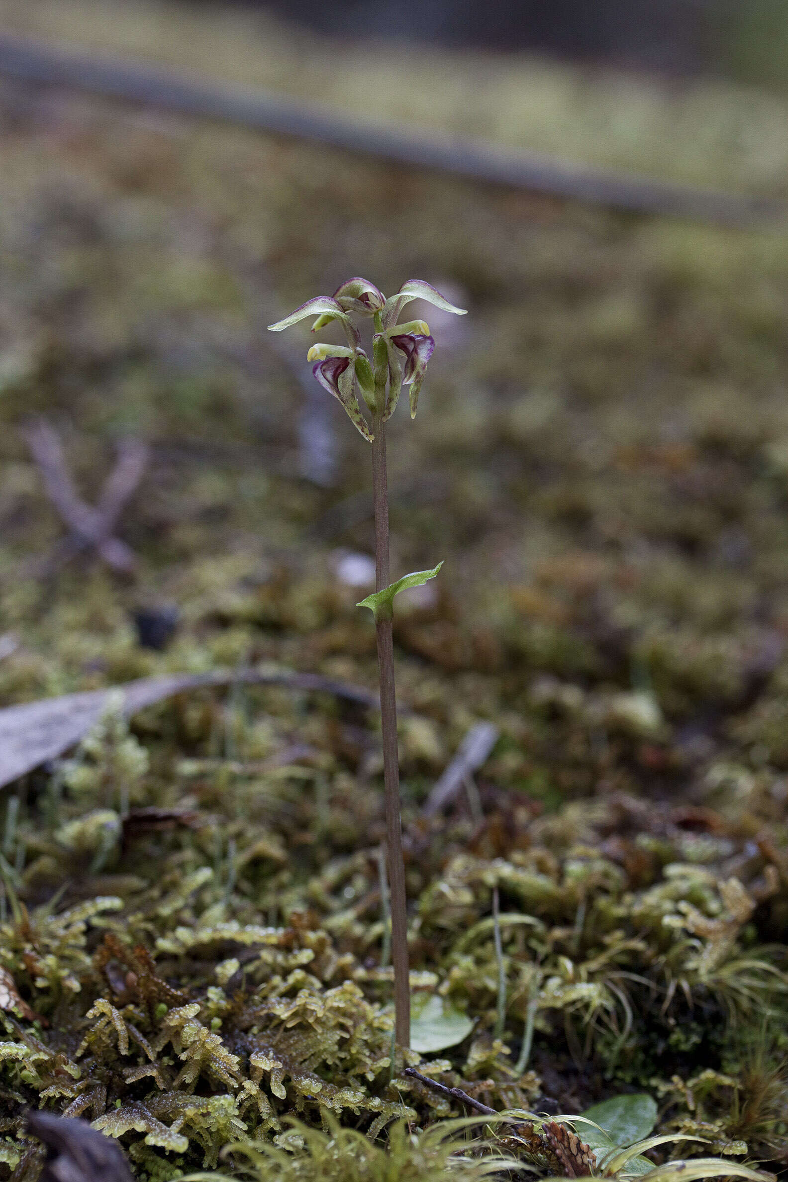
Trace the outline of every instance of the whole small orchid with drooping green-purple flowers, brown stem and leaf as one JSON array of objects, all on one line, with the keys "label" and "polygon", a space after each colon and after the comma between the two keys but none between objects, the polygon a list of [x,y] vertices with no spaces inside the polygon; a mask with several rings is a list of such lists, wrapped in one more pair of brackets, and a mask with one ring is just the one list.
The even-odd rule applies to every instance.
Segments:
[{"label": "whole small orchid with drooping green-purple flowers, brown stem and leaf", "polygon": [[[395,974],[395,1039],[397,1046],[410,1046],[410,986],[408,960],[408,913],[405,900],[405,864],[402,849],[399,811],[399,761],[397,752],[397,703],[393,670],[392,616],[393,598],[406,587],[419,586],[435,578],[441,563],[429,571],[416,571],[390,582],[389,571],[389,487],[386,478],[385,424],[393,414],[402,388],[410,388],[410,416],[416,417],[418,395],[435,339],[424,320],[398,324],[403,310],[422,299],[444,312],[464,316],[430,284],[409,279],[399,291],[386,297],[369,279],[347,279],[333,296],[318,296],[294,312],[268,325],[281,332],[299,320],[314,317],[312,331],[341,324],[346,345],[313,345],[307,359],[318,382],[339,400],[351,422],[372,444],[372,496],[375,502],[375,593],[359,608],[375,616],[380,676],[380,720],[383,729],[383,777],[386,813],[386,855],[391,896],[391,955]],[[353,318],[373,320],[372,359],[362,348],[362,337]],[[365,416],[358,394],[370,411]]]}]

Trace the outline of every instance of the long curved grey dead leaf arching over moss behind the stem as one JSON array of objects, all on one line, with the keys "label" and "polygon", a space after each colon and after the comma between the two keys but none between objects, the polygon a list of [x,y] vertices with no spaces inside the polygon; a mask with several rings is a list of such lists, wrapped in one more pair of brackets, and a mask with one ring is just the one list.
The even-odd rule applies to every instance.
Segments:
[{"label": "long curved grey dead leaf arching over moss behind the stem", "polygon": [[[210,687],[282,686],[305,693],[332,694],[366,709],[379,709],[376,693],[363,686],[333,681],[311,673],[274,673],[262,669],[221,669],[206,674],[171,674],[144,677],[125,686],[109,689],[45,697],[38,702],[8,706],[0,710],[0,788],[26,775],[50,759],[57,759],[78,743],[96,726],[112,701],[121,693],[121,709],[131,717],[146,706],[172,697],[175,694]],[[406,713],[400,707],[400,713]]]}]

